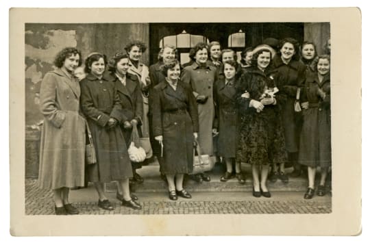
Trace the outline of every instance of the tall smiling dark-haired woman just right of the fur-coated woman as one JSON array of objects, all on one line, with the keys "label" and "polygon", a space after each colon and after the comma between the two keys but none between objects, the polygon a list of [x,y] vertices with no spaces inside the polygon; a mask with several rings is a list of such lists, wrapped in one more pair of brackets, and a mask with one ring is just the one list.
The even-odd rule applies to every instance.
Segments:
[{"label": "tall smiling dark-haired woman just right of the fur-coated woman", "polygon": [[[271,68],[277,73],[275,81],[280,93],[286,96],[286,102],[282,104],[282,118],[286,152],[288,163],[291,166],[297,165],[299,151],[299,114],[295,112],[294,103],[297,97],[297,89],[303,86],[306,77],[306,66],[299,62],[299,44],[293,38],[285,38],[280,42],[280,53],[273,57]],[[273,172],[270,180],[275,182],[281,179],[288,183],[288,175],[285,173],[285,164],[280,164],[280,169],[273,165]]]}]

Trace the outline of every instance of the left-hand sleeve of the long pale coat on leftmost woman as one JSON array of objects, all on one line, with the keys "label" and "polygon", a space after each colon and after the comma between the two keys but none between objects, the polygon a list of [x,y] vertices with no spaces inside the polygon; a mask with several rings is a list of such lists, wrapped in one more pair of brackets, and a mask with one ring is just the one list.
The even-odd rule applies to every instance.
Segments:
[{"label": "left-hand sleeve of the long pale coat on leftmost woman", "polygon": [[66,118],[66,112],[58,109],[56,102],[56,75],[47,73],[40,88],[40,111],[45,119],[60,128]]}]

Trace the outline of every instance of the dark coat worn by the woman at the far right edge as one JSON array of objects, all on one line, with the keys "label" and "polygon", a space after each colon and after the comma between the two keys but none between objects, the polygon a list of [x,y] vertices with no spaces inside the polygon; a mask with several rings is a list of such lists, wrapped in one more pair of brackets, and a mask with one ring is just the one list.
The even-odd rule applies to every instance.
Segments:
[{"label": "dark coat worn by the woman at the far right edge", "polygon": [[[317,95],[321,88],[325,99]],[[299,164],[328,167],[332,163],[331,120],[330,120],[330,74],[319,82],[317,73],[311,73],[303,90],[302,102],[308,101],[308,109],[303,109],[304,123],[299,146]]]}]

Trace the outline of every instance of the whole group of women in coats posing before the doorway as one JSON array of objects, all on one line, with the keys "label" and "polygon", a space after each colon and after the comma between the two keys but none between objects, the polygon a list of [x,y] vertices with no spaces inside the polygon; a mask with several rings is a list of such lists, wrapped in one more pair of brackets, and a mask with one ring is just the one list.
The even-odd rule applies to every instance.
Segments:
[{"label": "whole group of women in coats posing before the doorway", "polygon": [[[130,193],[130,180],[143,182],[136,172],[141,164],[130,162],[127,153],[134,127],[151,138],[171,200],[191,198],[184,175],[210,181],[205,172],[192,175],[195,145],[198,154],[225,163],[221,181],[236,177],[245,183],[240,164],[251,164],[253,196],[271,196],[270,166],[270,181],[288,183],[286,163],[294,167],[294,177],[301,175],[301,166],[308,167],[304,198],[314,196],[320,167],[317,195],[325,195],[331,166],[329,55],[318,56],[312,42],[299,46],[286,38],[277,50],[267,44],[245,49],[239,64],[236,53],[221,50],[219,42],[200,42],[183,66],[175,47],[164,45],[158,63],[148,68],[140,62],[145,49],[134,41],[110,60],[90,53],[86,77],[79,77],[82,55],[66,48],[56,56],[56,70],[45,75],[38,183],[53,190],[56,214],[79,213],[69,203],[69,189],[86,180],[95,184],[102,209],[114,209],[103,191],[110,181],[117,182],[122,205],[141,209]],[[88,133],[95,164],[85,162]]]}]

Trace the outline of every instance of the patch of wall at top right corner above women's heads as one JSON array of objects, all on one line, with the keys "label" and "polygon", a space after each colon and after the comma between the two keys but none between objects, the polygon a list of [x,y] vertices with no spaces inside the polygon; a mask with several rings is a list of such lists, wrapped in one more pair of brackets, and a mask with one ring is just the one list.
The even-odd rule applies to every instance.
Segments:
[{"label": "patch of wall at top right corner above women's heads", "polygon": [[314,42],[319,55],[324,53],[324,45],[328,38],[330,38],[330,23],[304,24],[304,40]]}]

